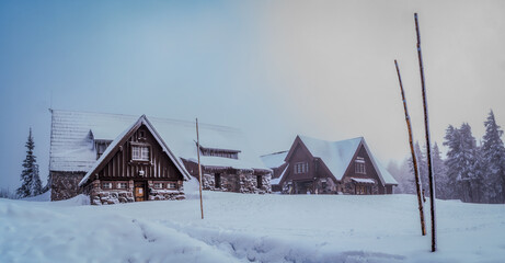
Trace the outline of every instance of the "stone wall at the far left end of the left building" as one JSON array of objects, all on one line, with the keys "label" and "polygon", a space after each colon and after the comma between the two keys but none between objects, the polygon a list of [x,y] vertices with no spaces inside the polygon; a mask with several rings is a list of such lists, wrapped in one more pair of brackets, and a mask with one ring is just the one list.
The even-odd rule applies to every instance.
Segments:
[{"label": "stone wall at the far left end of the left building", "polygon": [[68,199],[82,193],[79,182],[84,178],[84,172],[50,171],[50,201]]}]

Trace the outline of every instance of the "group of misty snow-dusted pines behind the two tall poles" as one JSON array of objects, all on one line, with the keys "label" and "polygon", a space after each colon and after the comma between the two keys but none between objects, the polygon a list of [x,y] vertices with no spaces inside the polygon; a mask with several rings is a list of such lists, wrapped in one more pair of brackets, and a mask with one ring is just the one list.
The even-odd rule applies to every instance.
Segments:
[{"label": "group of misty snow-dusted pines behind the two tall poles", "polygon": [[[438,145],[432,146],[436,197],[461,199],[468,203],[505,203],[505,147],[503,130],[496,124],[493,111],[484,122],[485,134],[478,145],[468,123],[449,125],[444,137],[447,147],[443,159]],[[429,194],[426,146],[414,146],[420,178],[425,195]],[[415,194],[412,158],[402,163],[390,162],[388,170],[399,182],[395,193]]]}]

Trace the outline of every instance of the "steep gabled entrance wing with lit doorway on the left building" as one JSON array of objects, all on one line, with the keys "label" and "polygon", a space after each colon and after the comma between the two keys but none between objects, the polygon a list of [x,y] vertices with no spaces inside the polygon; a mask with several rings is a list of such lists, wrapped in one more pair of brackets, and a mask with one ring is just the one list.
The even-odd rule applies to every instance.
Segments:
[{"label": "steep gabled entrance wing with lit doorway on the left building", "polygon": [[79,183],[91,204],[184,199],[188,173],[145,115],[105,149]]}]

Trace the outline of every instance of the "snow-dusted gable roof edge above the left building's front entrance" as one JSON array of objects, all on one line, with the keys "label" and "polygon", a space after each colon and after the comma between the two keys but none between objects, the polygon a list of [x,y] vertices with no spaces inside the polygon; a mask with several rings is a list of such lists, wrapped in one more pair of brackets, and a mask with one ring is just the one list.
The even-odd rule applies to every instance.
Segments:
[{"label": "snow-dusted gable roof edge above the left building's front entrance", "polygon": [[154,139],[158,141],[158,144],[161,146],[163,149],[163,152],[168,155],[170,160],[174,163],[175,168],[185,176],[185,179],[190,180],[190,173],[186,171],[184,165],[182,164],[181,160],[173,155],[173,152],[169,149],[167,144],[163,141],[163,139],[160,137],[156,128],[152,126],[152,124],[149,122],[149,119],[146,117],[146,115],[140,116],[137,122],[131,124],[128,128],[123,130],[107,147],[107,149],[103,152],[103,155],[99,158],[99,160],[95,161],[93,167],[88,171],[88,173],[84,175],[84,178],[79,182],[79,186],[82,186],[88,182],[88,179],[99,172],[100,169],[103,168],[115,155],[115,152],[118,150],[118,147],[122,146],[126,140],[128,140],[129,137],[141,126],[145,125],[149,132],[152,134]]}]

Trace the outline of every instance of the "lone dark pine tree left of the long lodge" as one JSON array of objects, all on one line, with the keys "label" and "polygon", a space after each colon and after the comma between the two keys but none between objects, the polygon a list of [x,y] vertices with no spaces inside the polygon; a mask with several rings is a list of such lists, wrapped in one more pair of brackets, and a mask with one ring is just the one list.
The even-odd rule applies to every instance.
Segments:
[{"label": "lone dark pine tree left of the long lodge", "polygon": [[20,198],[38,195],[42,190],[41,178],[38,176],[38,165],[36,163],[36,157],[33,153],[35,142],[33,141],[32,128],[30,128],[30,135],[25,146],[27,149],[26,158],[23,161],[23,171],[20,176],[22,184],[16,191]]}]

